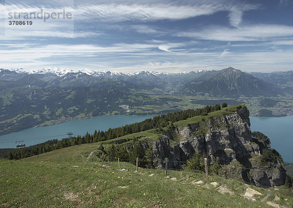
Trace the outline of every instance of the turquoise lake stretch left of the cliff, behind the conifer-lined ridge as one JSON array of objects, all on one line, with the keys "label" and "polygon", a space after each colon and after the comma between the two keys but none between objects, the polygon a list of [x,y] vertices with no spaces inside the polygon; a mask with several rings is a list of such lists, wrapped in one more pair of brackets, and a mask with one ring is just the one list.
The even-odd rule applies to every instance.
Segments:
[{"label": "turquoise lake stretch left of the cliff, behind the conifer-lined ridge", "polygon": [[24,141],[26,146],[36,145],[52,139],[68,137],[67,132],[73,136],[84,135],[86,132],[93,134],[97,130],[108,130],[127,124],[141,122],[154,115],[146,116],[97,116],[85,120],[69,121],[57,125],[38,128],[28,128],[19,132],[0,136],[0,148],[16,148],[15,141]]}]

